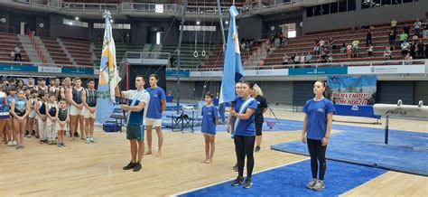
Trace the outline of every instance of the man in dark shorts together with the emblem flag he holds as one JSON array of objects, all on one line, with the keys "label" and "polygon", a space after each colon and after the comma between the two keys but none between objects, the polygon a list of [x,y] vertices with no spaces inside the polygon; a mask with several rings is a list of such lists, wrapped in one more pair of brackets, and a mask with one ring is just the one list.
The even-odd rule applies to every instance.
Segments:
[{"label": "man in dark shorts together with the emblem flag he holds", "polygon": [[[144,78],[135,78],[136,90],[120,91],[117,84],[121,80],[116,66],[116,47],[113,40],[110,12],[104,12],[106,19],[106,29],[104,32],[103,52],[98,81],[97,98],[97,122],[104,123],[113,113],[115,107],[115,97],[128,98],[128,105],[122,105],[122,109],[127,111],[126,138],[131,144],[132,160],[123,169],[133,169],[134,172],[141,170],[141,159],[144,154],[144,118],[145,106],[149,103],[150,94],[144,89]],[[138,144],[138,146],[137,146]],[[138,153],[138,159],[137,157]]]}]

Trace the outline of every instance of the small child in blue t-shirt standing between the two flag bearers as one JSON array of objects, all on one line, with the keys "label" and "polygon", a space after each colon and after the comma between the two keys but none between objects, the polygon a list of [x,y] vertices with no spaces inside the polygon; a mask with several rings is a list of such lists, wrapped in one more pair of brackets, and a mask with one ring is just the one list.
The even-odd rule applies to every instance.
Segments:
[{"label": "small child in blue t-shirt standing between the two flag bearers", "polygon": [[205,94],[206,105],[202,107],[202,133],[205,138],[205,160],[201,163],[209,164],[212,162],[212,155],[216,149],[216,126],[219,123],[219,112],[217,107],[212,104],[214,93]]}]

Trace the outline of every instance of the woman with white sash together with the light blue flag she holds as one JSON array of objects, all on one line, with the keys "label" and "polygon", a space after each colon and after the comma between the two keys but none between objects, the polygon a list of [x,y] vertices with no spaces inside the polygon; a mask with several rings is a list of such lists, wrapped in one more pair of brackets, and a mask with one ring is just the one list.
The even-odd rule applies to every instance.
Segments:
[{"label": "woman with white sash together with the light blue flag she holds", "polygon": [[[248,82],[242,83],[241,97],[235,97],[235,83],[243,77],[242,61],[239,52],[239,40],[237,37],[237,8],[232,5],[229,9],[229,29],[228,45],[226,47],[225,64],[223,69],[223,78],[220,89],[219,103],[232,102],[229,116],[235,117],[231,121],[232,136],[235,142],[235,151],[237,155],[237,179],[232,186],[243,184],[244,188],[250,188],[252,185],[251,176],[254,168],[254,145],[256,142],[255,116],[257,102],[251,98],[250,94],[253,85]],[[244,182],[244,164],[247,156],[247,179]]]}]

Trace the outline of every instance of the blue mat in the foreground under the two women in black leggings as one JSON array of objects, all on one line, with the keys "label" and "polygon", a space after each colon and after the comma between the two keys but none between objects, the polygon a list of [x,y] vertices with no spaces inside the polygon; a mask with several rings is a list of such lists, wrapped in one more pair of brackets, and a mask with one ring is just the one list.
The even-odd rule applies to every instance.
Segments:
[{"label": "blue mat in the foreground under the two women in black leggings", "polygon": [[253,174],[253,186],[249,189],[232,187],[232,181],[228,181],[181,196],[338,196],[385,173],[382,169],[328,161],[326,188],[315,192],[306,189],[306,183],[311,180],[312,175],[310,162],[305,160]]}]

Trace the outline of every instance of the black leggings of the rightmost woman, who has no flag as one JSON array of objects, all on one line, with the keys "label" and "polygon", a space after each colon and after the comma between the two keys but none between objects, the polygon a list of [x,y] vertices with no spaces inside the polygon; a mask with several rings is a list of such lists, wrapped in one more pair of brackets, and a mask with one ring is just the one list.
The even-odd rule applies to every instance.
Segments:
[{"label": "black leggings of the rightmost woman, who has no flag", "polygon": [[311,155],[312,178],[317,178],[318,163],[320,163],[319,178],[320,180],[324,180],[324,174],[327,168],[325,161],[325,151],[327,150],[327,145],[322,145],[321,140],[308,139],[308,150],[309,155]]}]

